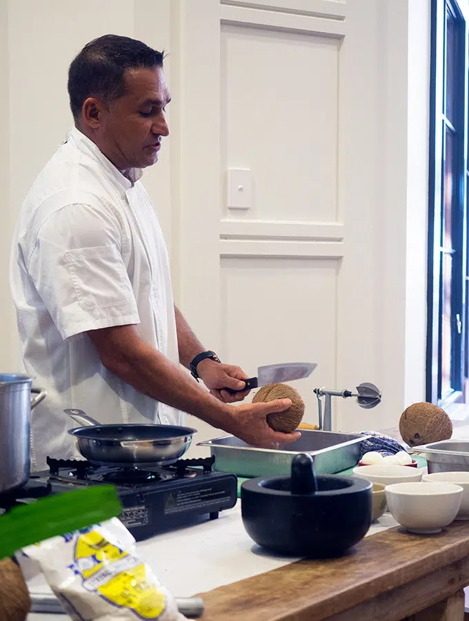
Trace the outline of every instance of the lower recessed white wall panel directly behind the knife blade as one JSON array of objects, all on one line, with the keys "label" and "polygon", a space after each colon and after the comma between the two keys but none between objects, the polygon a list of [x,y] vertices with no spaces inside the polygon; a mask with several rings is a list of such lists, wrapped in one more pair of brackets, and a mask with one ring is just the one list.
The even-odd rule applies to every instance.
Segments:
[{"label": "lower recessed white wall panel directly behind the knife blade", "polygon": [[248,375],[277,362],[317,362],[307,380],[290,382],[317,423],[313,388],[335,384],[337,273],[333,259],[222,259],[223,359]]}]

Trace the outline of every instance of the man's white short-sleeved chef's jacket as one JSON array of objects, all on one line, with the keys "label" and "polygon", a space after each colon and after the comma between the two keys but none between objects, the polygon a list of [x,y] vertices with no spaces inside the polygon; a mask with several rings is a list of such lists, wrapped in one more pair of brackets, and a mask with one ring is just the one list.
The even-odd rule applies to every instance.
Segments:
[{"label": "man's white short-sleeved chef's jacket", "polygon": [[78,457],[64,408],[99,422],[181,424],[179,411],[110,373],[88,330],[137,324],[178,363],[166,244],[150,198],[77,128],[32,185],[12,246],[10,284],[21,353],[48,397],[32,411],[32,470]]}]

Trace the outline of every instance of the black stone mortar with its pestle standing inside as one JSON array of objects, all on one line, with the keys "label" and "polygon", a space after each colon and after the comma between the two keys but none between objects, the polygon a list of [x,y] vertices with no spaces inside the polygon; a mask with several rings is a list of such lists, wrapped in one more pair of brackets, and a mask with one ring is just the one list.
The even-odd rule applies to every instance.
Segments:
[{"label": "black stone mortar with its pestle standing inside", "polygon": [[277,553],[331,558],[357,544],[371,524],[372,484],[316,476],[312,457],[295,455],[291,476],[241,485],[241,515],[252,540]]}]

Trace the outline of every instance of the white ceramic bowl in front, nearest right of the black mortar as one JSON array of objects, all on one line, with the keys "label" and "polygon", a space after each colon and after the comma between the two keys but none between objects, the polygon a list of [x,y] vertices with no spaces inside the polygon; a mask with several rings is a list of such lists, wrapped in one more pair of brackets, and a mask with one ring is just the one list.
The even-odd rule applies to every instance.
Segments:
[{"label": "white ceramic bowl in front, nearest right of the black mortar", "polygon": [[[405,466],[404,466],[405,467]],[[455,519],[463,489],[452,483],[397,483],[386,486],[392,517],[411,533],[429,535]]]}]

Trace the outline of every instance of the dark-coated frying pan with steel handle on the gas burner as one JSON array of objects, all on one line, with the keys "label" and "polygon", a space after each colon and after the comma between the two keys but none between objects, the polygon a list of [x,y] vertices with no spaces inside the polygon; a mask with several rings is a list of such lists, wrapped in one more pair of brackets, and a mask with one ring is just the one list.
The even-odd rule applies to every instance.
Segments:
[{"label": "dark-coated frying pan with steel handle on the gas burner", "polygon": [[88,462],[98,466],[149,467],[174,464],[188,450],[195,429],[173,425],[101,425],[81,410],[64,410],[83,425],[68,433]]}]

